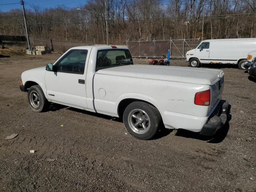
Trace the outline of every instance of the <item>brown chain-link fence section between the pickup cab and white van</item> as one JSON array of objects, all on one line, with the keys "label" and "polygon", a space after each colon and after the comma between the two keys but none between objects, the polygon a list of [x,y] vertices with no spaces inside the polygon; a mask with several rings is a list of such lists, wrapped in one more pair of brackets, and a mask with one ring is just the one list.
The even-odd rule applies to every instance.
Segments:
[{"label": "brown chain-link fence section between the pickup cab and white van", "polygon": [[167,55],[170,50],[171,58],[185,58],[186,52],[198,46],[200,39],[170,39],[129,41],[126,45],[133,57],[159,58]]}]

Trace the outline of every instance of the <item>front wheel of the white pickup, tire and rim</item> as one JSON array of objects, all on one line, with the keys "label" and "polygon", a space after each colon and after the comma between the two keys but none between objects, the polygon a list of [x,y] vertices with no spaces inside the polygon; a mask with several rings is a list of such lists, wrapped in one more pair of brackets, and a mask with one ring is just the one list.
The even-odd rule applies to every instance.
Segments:
[{"label": "front wheel of the white pickup, tire and rim", "polygon": [[31,86],[28,90],[28,103],[35,112],[42,112],[48,107],[48,100],[39,85]]}]

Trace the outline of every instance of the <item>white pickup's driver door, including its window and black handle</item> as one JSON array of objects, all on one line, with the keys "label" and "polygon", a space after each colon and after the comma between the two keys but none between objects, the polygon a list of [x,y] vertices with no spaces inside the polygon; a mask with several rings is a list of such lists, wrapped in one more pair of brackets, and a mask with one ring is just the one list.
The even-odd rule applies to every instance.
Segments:
[{"label": "white pickup's driver door, including its window and black handle", "polygon": [[[72,49],[56,61],[57,72],[46,71],[48,100],[59,104],[87,108],[86,58],[88,50]],[[85,71],[85,73],[84,73]]]}]

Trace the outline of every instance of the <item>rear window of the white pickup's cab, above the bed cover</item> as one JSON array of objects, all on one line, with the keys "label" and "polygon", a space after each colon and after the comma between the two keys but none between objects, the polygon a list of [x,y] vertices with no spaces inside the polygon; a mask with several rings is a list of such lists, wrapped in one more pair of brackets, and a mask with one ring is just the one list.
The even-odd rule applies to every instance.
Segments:
[{"label": "rear window of the white pickup's cab, above the bed cover", "polygon": [[132,65],[132,56],[128,49],[99,50],[95,71],[110,67]]}]

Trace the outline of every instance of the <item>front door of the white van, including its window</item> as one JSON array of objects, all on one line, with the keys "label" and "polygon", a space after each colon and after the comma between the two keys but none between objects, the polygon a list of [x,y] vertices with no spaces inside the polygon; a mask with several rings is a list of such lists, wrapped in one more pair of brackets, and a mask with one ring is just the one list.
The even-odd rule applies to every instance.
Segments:
[{"label": "front door of the white van, including its window", "polygon": [[200,59],[201,63],[209,63],[210,42],[202,42],[195,49],[195,56]]}]

